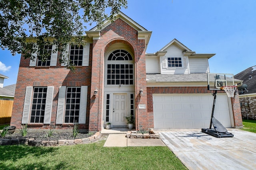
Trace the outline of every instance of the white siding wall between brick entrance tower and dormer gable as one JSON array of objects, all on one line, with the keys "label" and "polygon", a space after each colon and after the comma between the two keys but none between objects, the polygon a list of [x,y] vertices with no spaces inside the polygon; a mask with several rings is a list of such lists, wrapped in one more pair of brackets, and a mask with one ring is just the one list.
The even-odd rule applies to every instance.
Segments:
[{"label": "white siding wall between brick entrance tower and dormer gable", "polygon": [[160,73],[158,57],[146,57],[146,73]]}]

